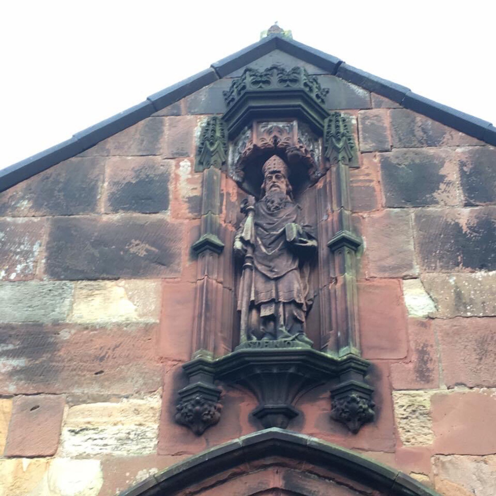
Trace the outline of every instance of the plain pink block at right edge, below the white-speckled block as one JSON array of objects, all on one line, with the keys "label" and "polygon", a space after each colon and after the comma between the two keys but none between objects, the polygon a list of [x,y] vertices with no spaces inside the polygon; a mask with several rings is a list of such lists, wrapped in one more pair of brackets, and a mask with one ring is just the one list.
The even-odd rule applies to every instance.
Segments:
[{"label": "plain pink block at right edge, below the white-speckled block", "polygon": [[448,387],[496,386],[496,317],[436,318],[433,327]]}]

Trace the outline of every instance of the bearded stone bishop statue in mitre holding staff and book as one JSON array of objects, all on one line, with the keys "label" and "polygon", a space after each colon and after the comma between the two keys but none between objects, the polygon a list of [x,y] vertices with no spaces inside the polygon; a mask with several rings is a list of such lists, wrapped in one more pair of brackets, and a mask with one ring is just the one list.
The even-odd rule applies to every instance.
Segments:
[{"label": "bearded stone bishop statue in mitre holding staff and book", "polygon": [[312,297],[308,262],[317,242],[293,201],[288,166],[273,155],[262,172],[261,198],[246,210],[234,241],[235,252],[248,262],[238,299],[246,335],[241,341],[294,340],[311,345],[305,335]]}]

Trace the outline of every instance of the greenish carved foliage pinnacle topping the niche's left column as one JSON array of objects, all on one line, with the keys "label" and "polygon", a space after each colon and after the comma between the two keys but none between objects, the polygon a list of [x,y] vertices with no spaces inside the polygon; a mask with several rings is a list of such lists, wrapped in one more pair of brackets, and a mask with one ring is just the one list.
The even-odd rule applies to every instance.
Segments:
[{"label": "greenish carved foliage pinnacle topping the niche's left column", "polygon": [[227,160],[227,131],[221,117],[207,119],[200,135],[194,170],[201,172],[209,167],[220,169]]}]

